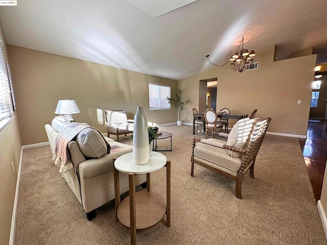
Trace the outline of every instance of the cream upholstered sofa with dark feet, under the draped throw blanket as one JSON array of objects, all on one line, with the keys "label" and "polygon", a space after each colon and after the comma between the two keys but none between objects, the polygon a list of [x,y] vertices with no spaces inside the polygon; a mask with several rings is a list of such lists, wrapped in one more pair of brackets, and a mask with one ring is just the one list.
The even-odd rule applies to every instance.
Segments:
[{"label": "cream upholstered sofa with dark feet, under the draped throw blanket", "polygon": [[[66,121],[62,116],[56,116],[51,125],[45,125],[52,155],[56,153],[56,138],[63,131],[71,130],[72,124],[74,122]],[[109,154],[106,152],[107,149],[105,152],[102,150],[106,144],[103,142],[99,144],[103,139],[110,145]],[[131,145],[104,137],[94,128],[81,131],[67,144],[69,163],[72,163],[73,167],[62,171],[61,175],[81,203],[88,220],[96,217],[97,208],[114,199],[113,158],[132,151]],[[129,189],[128,174],[121,172],[119,174],[120,193],[123,194]],[[136,175],[135,183],[136,186],[146,183],[146,175]]]}]

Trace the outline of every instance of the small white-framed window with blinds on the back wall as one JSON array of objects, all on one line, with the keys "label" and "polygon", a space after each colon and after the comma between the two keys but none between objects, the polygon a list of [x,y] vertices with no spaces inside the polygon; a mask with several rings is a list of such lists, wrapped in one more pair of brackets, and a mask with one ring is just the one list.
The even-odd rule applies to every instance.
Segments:
[{"label": "small white-framed window with blinds on the back wall", "polygon": [[170,86],[149,83],[150,110],[170,110],[167,97],[170,97]]}]

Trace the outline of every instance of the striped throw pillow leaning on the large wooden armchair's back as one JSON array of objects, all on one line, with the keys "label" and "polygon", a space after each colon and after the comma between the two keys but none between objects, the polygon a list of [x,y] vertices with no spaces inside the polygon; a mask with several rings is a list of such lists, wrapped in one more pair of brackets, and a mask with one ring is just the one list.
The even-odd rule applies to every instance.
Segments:
[{"label": "striped throw pillow leaning on the large wooden armchair's back", "polygon": [[[235,148],[244,149],[248,141],[250,140],[249,136],[252,132],[253,122],[257,119],[258,118],[244,118],[238,120],[228,135],[227,145]],[[240,152],[235,152],[231,150],[227,150],[227,152],[231,157],[242,156],[242,153]]]}]

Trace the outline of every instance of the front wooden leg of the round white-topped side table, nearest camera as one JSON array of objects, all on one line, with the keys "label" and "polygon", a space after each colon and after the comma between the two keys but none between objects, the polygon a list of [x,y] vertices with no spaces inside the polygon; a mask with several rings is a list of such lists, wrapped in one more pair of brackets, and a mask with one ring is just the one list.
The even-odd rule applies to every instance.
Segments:
[{"label": "front wooden leg of the round white-topped side table, nearest camera", "polygon": [[136,245],[135,173],[128,174],[131,245]]}]

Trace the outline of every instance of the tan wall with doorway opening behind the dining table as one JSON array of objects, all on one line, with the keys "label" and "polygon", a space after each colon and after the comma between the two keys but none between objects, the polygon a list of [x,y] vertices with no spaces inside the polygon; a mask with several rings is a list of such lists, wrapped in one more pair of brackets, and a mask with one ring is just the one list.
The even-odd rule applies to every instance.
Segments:
[{"label": "tan wall with doorway opening behind the dining table", "polygon": [[[185,97],[191,97],[190,108],[198,108],[200,80],[218,78],[217,110],[226,107],[231,113],[249,114],[258,109],[256,116],[272,118],[269,132],[305,137],[316,55],[281,61],[273,61],[273,55],[271,46],[256,51],[259,69],[240,74],[228,65],[214,67],[179,81],[178,86]],[[192,122],[188,120],[190,115],[191,110],[184,113],[183,121]]]}]

